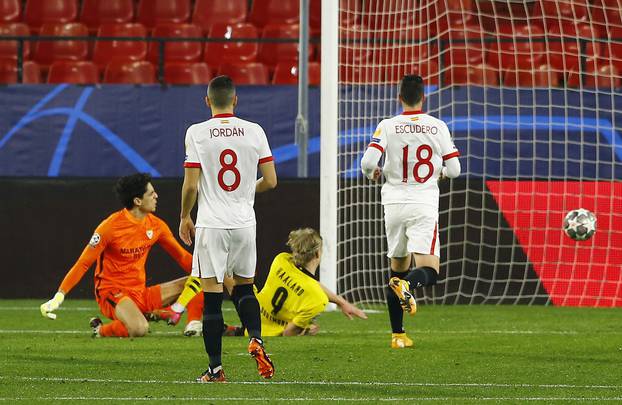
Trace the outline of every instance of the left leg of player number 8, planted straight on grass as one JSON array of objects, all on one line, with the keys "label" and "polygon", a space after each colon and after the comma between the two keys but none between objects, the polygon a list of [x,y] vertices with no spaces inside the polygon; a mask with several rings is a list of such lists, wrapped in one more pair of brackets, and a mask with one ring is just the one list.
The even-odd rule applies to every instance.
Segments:
[{"label": "left leg of player number 8, planted straight on grass", "polygon": [[192,276],[201,278],[203,290],[203,344],[209,367],[198,382],[222,382],[222,281],[231,243],[231,231],[197,228],[192,256]]}]

